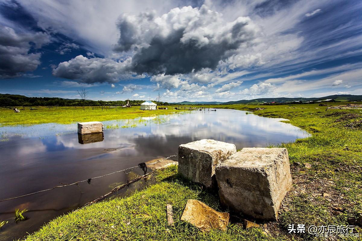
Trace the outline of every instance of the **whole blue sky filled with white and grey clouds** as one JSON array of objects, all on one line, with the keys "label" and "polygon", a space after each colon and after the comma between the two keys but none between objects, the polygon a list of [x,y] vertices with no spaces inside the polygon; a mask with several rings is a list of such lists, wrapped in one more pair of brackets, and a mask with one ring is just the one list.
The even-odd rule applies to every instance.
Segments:
[{"label": "whole blue sky filled with white and grey clouds", "polygon": [[360,0],[0,0],[0,93],[362,95]]}]

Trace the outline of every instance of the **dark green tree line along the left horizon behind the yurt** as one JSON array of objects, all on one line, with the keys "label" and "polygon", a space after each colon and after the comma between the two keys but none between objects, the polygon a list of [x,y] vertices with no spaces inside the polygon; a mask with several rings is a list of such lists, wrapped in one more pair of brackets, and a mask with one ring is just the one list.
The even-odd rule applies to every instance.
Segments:
[{"label": "dark green tree line along the left horizon behind the yurt", "polygon": [[[131,106],[139,106],[145,100],[129,100]],[[153,101],[157,105],[168,105],[167,102]],[[0,106],[114,106],[127,104],[127,100],[81,100],[62,99],[57,97],[27,97],[24,95],[0,94]]]}]

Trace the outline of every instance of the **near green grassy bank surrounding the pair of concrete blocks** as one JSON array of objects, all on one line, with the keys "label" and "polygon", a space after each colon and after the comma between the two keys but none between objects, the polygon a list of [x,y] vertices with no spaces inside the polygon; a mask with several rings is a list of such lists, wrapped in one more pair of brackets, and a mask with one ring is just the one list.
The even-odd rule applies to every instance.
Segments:
[{"label": "near green grassy bank surrounding the pair of concrete blocks", "polygon": [[[116,198],[59,217],[26,240],[300,240],[318,239],[308,234],[289,234],[288,224],[347,225],[362,213],[362,113],[361,110],[328,110],[311,105],[215,106],[254,111],[281,117],[312,134],[294,143],[289,151],[293,188],[282,203],[277,222],[261,228],[243,229],[232,221],[226,232],[203,233],[180,221],[187,199],[199,199],[218,211],[216,195],[203,191],[168,168],[159,183],[130,197]],[[216,112],[217,113],[217,112]],[[310,163],[306,168],[304,163]],[[174,206],[175,227],[168,227],[166,204]],[[240,215],[240,217],[242,217]],[[362,232],[361,228],[356,228]],[[346,240],[362,240],[348,237]]]}]

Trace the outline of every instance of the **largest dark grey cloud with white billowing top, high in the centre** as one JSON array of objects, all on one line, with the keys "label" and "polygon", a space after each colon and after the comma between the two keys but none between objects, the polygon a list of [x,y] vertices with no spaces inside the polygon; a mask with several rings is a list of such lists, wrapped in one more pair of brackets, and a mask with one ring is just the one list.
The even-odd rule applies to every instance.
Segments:
[{"label": "largest dark grey cloud with white billowing top, high in the centre", "polygon": [[123,15],[115,51],[134,51],[131,71],[138,74],[186,74],[215,69],[220,60],[242,43],[255,38],[257,27],[247,17],[233,22],[207,7],[174,8],[155,18],[153,14]]}]

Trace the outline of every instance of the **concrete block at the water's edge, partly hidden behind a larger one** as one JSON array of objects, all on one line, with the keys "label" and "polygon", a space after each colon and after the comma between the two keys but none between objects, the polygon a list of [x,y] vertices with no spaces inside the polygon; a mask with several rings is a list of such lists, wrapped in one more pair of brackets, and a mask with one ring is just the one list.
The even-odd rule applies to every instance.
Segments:
[{"label": "concrete block at the water's edge, partly hidden behind a larger one", "polygon": [[209,188],[214,184],[215,165],[234,153],[234,144],[210,139],[180,145],[178,173]]}]

